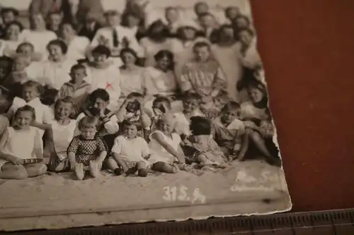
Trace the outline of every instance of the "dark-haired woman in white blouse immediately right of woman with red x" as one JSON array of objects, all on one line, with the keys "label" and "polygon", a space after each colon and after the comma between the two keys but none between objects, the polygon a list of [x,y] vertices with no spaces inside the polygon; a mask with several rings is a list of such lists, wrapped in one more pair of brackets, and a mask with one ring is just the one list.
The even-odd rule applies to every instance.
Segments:
[{"label": "dark-haired woman in white blouse immediately right of woman with red x", "polygon": [[122,104],[127,95],[132,92],[144,95],[144,100],[151,100],[156,91],[151,79],[146,76],[146,68],[137,65],[137,52],[130,48],[122,49],[120,58],[123,65],[120,66],[121,93],[119,104]]}]

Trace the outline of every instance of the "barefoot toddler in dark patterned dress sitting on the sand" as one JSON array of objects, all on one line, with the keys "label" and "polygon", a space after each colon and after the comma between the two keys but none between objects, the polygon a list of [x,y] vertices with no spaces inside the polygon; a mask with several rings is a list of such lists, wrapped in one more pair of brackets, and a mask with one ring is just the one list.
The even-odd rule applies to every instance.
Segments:
[{"label": "barefoot toddler in dark patterned dress sitting on the sand", "polygon": [[79,121],[80,135],[75,136],[67,149],[67,155],[76,178],[84,179],[84,172],[90,171],[91,176],[98,177],[103,160],[107,156],[107,147],[97,134],[98,119],[85,116]]}]

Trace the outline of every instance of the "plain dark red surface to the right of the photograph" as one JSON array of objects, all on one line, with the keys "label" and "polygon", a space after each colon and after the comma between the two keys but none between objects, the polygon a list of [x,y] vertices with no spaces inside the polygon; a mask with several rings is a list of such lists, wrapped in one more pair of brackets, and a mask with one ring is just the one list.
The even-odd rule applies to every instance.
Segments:
[{"label": "plain dark red surface to the right of the photograph", "polygon": [[354,207],[354,1],[251,4],[292,211]]}]

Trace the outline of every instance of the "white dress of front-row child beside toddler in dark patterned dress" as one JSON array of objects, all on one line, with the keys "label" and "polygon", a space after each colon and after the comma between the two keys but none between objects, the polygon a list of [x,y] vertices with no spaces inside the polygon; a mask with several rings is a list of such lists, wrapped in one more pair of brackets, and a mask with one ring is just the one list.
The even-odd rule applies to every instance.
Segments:
[{"label": "white dress of front-row child beside toddler in dark patterned dress", "polygon": [[114,140],[112,152],[120,155],[122,160],[133,167],[137,162],[144,162],[149,166],[149,162],[144,159],[150,154],[149,145],[144,138],[137,136],[132,140],[128,140],[124,135],[119,135]]}]

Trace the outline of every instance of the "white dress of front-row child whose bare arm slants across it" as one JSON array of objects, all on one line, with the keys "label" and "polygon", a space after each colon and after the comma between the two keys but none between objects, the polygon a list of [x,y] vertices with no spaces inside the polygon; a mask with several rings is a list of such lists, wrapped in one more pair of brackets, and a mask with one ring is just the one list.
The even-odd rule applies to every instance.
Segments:
[{"label": "white dress of front-row child whose bare arm slants across it", "polygon": [[166,136],[164,133],[161,131],[154,131],[153,133],[150,134],[149,139],[149,149],[150,149],[150,158],[149,162],[151,164],[154,164],[156,162],[166,162],[168,164],[173,164],[177,159],[171,153],[167,152],[167,150],[157,141],[156,139],[152,138],[152,135],[154,133],[160,133],[161,135],[164,136],[164,140],[166,143],[169,143],[171,147],[173,147],[174,150],[178,150],[178,145],[181,143],[181,137],[178,135],[178,133],[171,133],[172,138],[169,138]]}]

